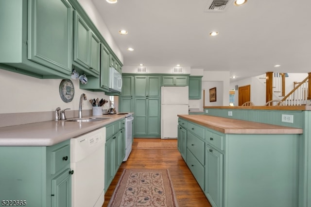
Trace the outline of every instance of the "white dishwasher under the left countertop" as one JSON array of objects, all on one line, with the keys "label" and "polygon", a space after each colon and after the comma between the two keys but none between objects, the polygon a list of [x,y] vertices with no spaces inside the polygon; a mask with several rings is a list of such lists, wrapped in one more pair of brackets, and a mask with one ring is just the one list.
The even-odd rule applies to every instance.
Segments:
[{"label": "white dishwasher under the left countertop", "polygon": [[72,207],[102,207],[106,128],[70,139]]}]

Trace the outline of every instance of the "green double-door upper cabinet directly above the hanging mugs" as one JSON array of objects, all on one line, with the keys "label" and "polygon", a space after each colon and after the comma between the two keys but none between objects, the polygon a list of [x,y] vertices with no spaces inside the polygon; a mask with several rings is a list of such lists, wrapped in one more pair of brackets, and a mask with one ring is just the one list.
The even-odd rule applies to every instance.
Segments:
[{"label": "green double-door upper cabinet directly above the hanging mugs", "polygon": [[81,73],[99,76],[100,40],[77,11],[74,11],[73,65],[81,69]]}]

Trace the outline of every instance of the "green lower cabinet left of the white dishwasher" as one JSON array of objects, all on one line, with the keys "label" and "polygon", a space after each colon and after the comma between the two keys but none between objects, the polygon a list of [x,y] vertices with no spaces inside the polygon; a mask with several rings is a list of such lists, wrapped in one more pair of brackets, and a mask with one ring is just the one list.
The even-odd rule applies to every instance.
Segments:
[{"label": "green lower cabinet left of the white dishwasher", "polygon": [[[0,147],[0,200],[70,207],[70,140],[49,147]],[[68,159],[63,159],[68,157]]]}]

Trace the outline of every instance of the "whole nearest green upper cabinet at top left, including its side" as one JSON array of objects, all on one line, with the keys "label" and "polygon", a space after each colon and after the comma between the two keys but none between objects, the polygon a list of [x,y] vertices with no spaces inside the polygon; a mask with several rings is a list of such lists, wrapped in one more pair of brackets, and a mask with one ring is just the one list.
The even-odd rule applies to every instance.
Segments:
[{"label": "whole nearest green upper cabinet at top left, including its side", "polygon": [[0,14],[1,69],[36,78],[70,78],[68,0],[1,0]]}]

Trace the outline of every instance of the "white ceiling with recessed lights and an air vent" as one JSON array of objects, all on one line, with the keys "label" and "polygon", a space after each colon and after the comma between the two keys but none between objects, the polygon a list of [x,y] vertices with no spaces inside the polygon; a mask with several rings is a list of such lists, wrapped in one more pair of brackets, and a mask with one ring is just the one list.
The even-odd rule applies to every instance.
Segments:
[{"label": "white ceiling with recessed lights and an air vent", "polygon": [[[211,0],[92,1],[125,66],[180,64],[230,71],[235,80],[267,71],[311,72],[310,0],[231,2],[223,12],[204,12]],[[119,35],[121,29],[128,35]],[[212,31],[219,35],[209,36]]]}]

